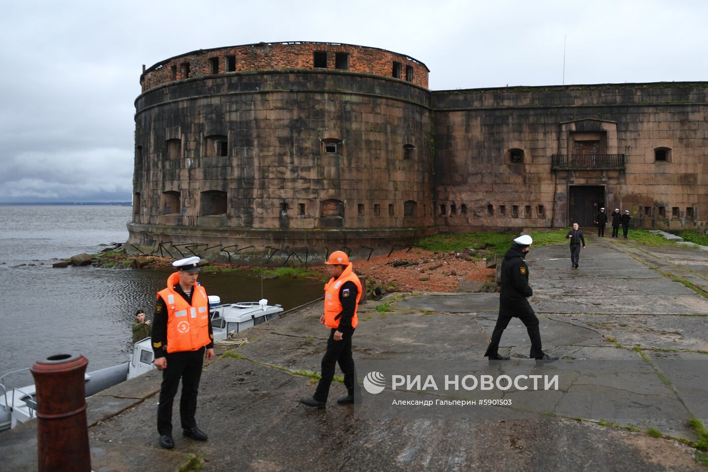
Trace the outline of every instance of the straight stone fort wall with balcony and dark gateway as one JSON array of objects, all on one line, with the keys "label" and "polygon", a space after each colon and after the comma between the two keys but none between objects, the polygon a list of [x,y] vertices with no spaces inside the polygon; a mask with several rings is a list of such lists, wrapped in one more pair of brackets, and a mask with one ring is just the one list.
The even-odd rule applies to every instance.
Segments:
[{"label": "straight stone fort wall with balcony and dark gateway", "polygon": [[[432,103],[435,209],[443,230],[563,227],[571,185],[605,186],[608,211],[629,209],[635,225],[707,224],[707,83],[440,91]],[[606,152],[626,154],[626,169],[552,171],[552,154],[569,152],[568,127],[584,119],[600,120],[612,147]],[[654,162],[656,147],[670,148],[670,162]],[[523,164],[505,162],[514,148],[523,150]],[[450,215],[451,204],[456,215]],[[462,204],[466,214],[460,214]],[[666,208],[665,218],[659,207]],[[675,218],[673,207],[680,209]],[[692,220],[686,208],[694,208]]]}]

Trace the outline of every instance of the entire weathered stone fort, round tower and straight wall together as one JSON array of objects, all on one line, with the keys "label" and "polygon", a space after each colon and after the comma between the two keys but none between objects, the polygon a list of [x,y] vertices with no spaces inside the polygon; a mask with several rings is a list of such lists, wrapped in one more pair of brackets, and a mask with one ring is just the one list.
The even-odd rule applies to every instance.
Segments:
[{"label": "entire weathered stone fort, round tower and straight wall together", "polygon": [[430,91],[413,57],[340,43],[145,68],[130,244],[312,257],[439,231],[704,229],[708,83]]}]

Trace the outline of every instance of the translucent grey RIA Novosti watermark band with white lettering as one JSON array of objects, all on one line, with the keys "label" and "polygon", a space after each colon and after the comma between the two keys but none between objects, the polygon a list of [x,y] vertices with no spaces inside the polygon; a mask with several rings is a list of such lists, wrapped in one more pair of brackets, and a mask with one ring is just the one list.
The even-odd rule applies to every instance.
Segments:
[{"label": "translucent grey RIA Novosti watermark band with white lettering", "polygon": [[708,420],[708,357],[358,360],[357,369],[358,417]]}]

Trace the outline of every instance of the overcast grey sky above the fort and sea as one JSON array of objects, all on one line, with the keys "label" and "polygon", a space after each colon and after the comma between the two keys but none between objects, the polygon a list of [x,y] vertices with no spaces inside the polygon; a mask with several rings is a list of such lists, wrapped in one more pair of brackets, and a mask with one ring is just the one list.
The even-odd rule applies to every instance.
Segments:
[{"label": "overcast grey sky above the fort and sea", "polygon": [[705,1],[8,1],[0,202],[130,201],[139,75],[200,48],[382,47],[430,89],[708,80]]}]

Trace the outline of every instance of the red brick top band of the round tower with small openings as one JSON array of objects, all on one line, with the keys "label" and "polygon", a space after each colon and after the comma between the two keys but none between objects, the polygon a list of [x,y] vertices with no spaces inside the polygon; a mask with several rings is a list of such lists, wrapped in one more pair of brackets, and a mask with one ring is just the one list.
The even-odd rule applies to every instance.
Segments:
[{"label": "red brick top band of the round tower with small openings", "polygon": [[[392,77],[393,62],[400,62],[402,80],[406,79],[406,66],[410,66],[413,67],[412,83],[428,88],[426,64],[412,57],[377,47],[337,43],[259,43],[188,52],[150,67],[141,75],[140,84],[142,91],[146,91],[175,80],[212,75],[212,63],[210,62],[212,57],[216,57],[218,60],[219,74],[227,73],[224,59],[227,56],[234,56],[235,72],[314,69],[313,53],[315,51],[327,52],[327,69],[337,70],[335,69],[336,52],[347,52],[349,54],[349,72],[375,74],[383,77]],[[189,64],[188,77],[185,75],[182,64]],[[173,72],[173,67],[176,68],[176,72]]]}]

